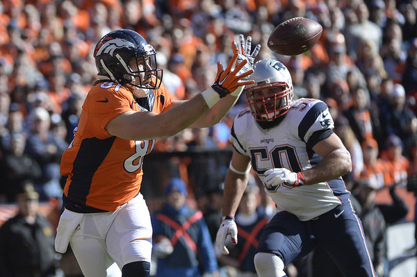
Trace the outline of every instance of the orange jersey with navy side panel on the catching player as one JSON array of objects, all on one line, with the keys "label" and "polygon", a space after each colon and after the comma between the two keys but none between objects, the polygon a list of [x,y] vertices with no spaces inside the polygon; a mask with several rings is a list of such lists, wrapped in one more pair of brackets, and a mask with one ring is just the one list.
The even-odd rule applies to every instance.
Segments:
[{"label": "orange jersey with navy side panel on the catching player", "polygon": [[102,82],[85,98],[74,140],[63,153],[60,173],[67,176],[63,202],[74,212],[114,211],[139,193],[142,159],[155,140],[124,140],[110,135],[106,125],[124,112],[170,109],[172,99],[164,85],[150,90],[140,106],[126,87]]}]

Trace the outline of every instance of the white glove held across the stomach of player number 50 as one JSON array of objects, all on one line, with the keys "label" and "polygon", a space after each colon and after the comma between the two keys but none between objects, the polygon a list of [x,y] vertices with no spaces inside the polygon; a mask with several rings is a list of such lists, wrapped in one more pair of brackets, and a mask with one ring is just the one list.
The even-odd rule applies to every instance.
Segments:
[{"label": "white glove held across the stomach of player number 50", "polygon": [[304,185],[304,176],[301,172],[291,172],[286,168],[273,168],[265,171],[263,183],[268,189],[274,189],[279,185],[289,188]]}]

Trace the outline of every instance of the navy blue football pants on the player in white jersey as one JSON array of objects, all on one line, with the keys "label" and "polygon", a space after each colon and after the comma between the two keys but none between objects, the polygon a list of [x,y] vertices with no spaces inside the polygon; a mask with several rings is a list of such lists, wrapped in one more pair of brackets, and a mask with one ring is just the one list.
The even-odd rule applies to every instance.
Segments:
[{"label": "navy blue football pants on the player in white jersey", "polygon": [[345,276],[377,276],[349,195],[341,196],[341,201],[342,205],[309,221],[300,221],[289,212],[278,212],[265,226],[256,252],[275,253],[288,265],[320,244]]}]

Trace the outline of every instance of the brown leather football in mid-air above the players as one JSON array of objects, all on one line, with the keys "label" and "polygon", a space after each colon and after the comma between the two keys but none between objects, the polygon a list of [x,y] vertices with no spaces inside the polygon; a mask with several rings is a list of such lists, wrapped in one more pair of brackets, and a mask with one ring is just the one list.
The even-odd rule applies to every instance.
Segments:
[{"label": "brown leather football in mid-air above the players", "polygon": [[275,27],[268,38],[268,47],[280,55],[300,55],[318,42],[322,31],[320,23],[313,19],[293,17]]}]

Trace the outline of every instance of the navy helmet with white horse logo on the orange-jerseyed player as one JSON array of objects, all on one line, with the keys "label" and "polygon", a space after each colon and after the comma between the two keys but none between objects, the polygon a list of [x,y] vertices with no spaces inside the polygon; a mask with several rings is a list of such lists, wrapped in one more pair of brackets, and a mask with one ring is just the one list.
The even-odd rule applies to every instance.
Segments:
[{"label": "navy helmet with white horse logo on the orange-jerseyed player", "polygon": [[[101,37],[94,50],[96,67],[99,78],[110,78],[121,85],[130,84],[142,89],[157,89],[161,85],[163,69],[156,64],[156,52],[142,35],[135,31],[122,29],[108,33]],[[137,70],[133,70],[129,63],[136,58]],[[136,77],[145,72],[151,72],[156,78],[152,82],[133,83]]]}]

